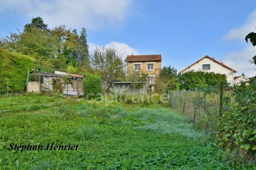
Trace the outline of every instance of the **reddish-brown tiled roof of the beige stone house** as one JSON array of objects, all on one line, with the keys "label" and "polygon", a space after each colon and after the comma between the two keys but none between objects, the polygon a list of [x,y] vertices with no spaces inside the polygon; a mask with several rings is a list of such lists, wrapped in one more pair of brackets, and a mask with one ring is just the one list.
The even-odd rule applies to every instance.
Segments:
[{"label": "reddish-brown tiled roof of the beige stone house", "polygon": [[161,54],[154,55],[127,55],[124,61],[161,61]]}]

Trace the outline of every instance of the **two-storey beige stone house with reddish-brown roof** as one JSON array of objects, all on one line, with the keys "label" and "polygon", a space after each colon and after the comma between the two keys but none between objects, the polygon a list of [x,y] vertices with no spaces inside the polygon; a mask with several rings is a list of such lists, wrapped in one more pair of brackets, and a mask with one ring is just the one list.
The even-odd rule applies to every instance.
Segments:
[{"label": "two-storey beige stone house with reddish-brown roof", "polygon": [[132,71],[142,71],[148,74],[149,89],[154,90],[154,79],[161,70],[162,56],[156,55],[127,55],[124,60],[127,63],[128,74]]}]

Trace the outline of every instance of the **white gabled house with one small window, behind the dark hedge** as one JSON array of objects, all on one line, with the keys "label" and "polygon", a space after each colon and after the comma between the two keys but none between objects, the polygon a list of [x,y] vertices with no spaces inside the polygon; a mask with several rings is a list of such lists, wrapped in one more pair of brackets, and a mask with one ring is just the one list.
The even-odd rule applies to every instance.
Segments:
[{"label": "white gabled house with one small window, behind the dark hedge", "polygon": [[179,74],[183,74],[186,71],[190,71],[190,70],[226,74],[228,82],[233,82],[234,80],[233,74],[237,72],[236,70],[228,67],[227,65],[223,64],[222,62],[219,62],[218,60],[215,60],[214,58],[208,55],[205,55],[200,60],[191,64],[187,68],[181,70]]}]

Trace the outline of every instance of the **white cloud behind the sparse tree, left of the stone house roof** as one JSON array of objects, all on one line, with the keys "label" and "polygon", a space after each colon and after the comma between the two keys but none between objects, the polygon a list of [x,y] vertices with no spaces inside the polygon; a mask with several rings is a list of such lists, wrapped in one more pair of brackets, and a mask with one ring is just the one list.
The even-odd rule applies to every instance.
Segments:
[{"label": "white cloud behind the sparse tree, left of the stone house roof", "polygon": [[[95,49],[95,46],[98,47],[102,47],[103,45],[96,45],[94,43],[88,43],[89,47],[90,47],[90,53],[93,53],[93,50]],[[133,53],[133,55],[138,55],[139,52],[137,49],[132,48],[130,46],[128,46],[126,43],[122,43],[122,42],[116,42],[116,41],[110,41],[108,44],[105,44],[105,47],[114,47],[117,52],[119,53],[119,55],[122,56],[122,59],[124,60],[125,57],[127,55],[131,55]]]}]

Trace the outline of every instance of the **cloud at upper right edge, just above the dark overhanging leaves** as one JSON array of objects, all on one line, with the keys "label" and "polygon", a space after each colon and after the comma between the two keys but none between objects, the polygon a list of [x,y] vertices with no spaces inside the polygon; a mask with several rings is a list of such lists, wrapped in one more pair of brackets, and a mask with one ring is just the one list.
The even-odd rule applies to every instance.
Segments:
[{"label": "cloud at upper right edge, just above the dark overhanging leaves", "polygon": [[256,31],[255,26],[256,26],[256,10],[250,13],[244,25],[238,28],[233,28],[229,30],[228,33],[224,36],[224,39],[225,40],[231,40],[231,39],[244,40],[245,36],[248,33]]}]

